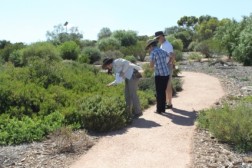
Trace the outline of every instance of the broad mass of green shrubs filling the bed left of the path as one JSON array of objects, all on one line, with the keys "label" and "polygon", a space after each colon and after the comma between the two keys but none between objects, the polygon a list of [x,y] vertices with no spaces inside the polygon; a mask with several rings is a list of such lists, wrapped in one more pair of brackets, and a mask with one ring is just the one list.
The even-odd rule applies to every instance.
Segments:
[{"label": "broad mass of green shrubs filling the bed left of the path", "polygon": [[[24,67],[6,63],[0,71],[0,144],[39,141],[60,125],[109,131],[130,121],[124,84],[106,87],[114,77],[95,66],[37,58]],[[153,103],[154,94],[139,94],[142,108]]]}]

